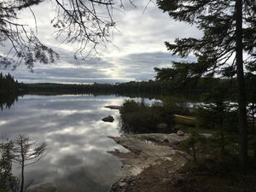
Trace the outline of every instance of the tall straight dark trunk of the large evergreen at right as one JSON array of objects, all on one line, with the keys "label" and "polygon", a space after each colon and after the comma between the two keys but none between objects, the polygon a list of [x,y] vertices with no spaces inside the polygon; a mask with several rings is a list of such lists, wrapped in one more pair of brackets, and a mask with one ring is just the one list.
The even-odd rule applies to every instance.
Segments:
[{"label": "tall straight dark trunk of the large evergreen at right", "polygon": [[242,0],[236,0],[236,74],[239,110],[239,168],[247,172],[247,110],[242,58]]}]

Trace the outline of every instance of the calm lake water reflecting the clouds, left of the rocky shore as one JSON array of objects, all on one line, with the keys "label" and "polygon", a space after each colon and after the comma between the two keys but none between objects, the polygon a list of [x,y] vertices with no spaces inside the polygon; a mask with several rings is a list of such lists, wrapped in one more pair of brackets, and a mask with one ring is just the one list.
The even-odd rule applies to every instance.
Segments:
[{"label": "calm lake water reflecting the clouds, left of the rocky shore", "polygon": [[[23,96],[0,111],[0,137],[19,134],[47,143],[47,155],[26,167],[26,181],[53,182],[61,192],[108,192],[122,172],[107,151],[119,148],[108,136],[119,135],[121,96]],[[113,123],[102,118],[113,115]],[[15,167],[18,174],[19,167]]]}]

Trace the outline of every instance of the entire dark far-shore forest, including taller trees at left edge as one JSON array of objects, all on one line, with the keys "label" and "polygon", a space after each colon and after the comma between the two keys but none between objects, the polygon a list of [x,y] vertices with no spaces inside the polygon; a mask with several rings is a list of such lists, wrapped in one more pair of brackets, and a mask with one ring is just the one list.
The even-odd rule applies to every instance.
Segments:
[{"label": "entire dark far-shore forest, including taller trees at left edge", "polygon": [[[247,92],[254,93],[255,79],[247,78]],[[131,81],[127,83],[116,84],[53,84],[38,83],[24,84],[18,83],[10,74],[3,75],[0,73],[0,99],[3,97],[11,97],[15,100],[15,96],[25,94],[36,95],[60,95],[60,94],[91,94],[99,95],[119,95],[119,96],[140,96],[148,98],[156,98],[160,96],[183,96],[198,99],[204,93],[212,93],[222,87],[226,99],[233,100],[236,98],[236,82],[235,79],[218,79],[218,78],[202,78],[188,80],[183,84],[182,88],[172,81],[148,80],[148,81]],[[249,102],[254,100],[255,96],[247,94]]]}]

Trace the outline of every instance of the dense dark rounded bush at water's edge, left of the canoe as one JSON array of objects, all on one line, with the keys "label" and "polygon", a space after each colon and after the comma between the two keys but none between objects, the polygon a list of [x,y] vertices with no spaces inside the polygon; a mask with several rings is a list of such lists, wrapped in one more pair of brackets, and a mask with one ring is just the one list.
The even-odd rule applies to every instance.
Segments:
[{"label": "dense dark rounded bush at water's edge, left of the canoe", "polygon": [[158,104],[127,100],[119,112],[121,131],[128,133],[154,132],[160,123],[172,125],[172,116]]}]

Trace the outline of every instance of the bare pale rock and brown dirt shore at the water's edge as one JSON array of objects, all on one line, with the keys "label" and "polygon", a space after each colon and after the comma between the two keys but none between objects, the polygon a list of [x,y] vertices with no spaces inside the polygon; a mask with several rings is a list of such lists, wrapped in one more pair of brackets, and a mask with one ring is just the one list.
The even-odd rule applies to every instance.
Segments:
[{"label": "bare pale rock and brown dirt shore at the water's edge", "polygon": [[113,183],[109,192],[168,191],[171,187],[169,185],[179,180],[180,174],[177,171],[190,158],[188,154],[176,149],[177,144],[188,137],[186,134],[178,136],[175,133],[110,137],[129,149],[129,152],[122,153],[117,149],[108,152],[117,156],[126,169],[125,176]]}]

